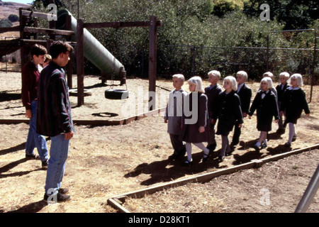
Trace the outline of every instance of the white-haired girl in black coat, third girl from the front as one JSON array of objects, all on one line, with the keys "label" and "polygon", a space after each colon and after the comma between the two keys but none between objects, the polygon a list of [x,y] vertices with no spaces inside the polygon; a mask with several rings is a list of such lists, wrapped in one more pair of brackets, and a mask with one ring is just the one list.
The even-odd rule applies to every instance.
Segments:
[{"label": "white-haired girl in black coat, third girl from the front", "polygon": [[260,131],[260,136],[253,148],[259,152],[260,147],[267,148],[267,133],[272,131],[272,119],[279,120],[279,111],[276,104],[276,97],[272,92],[272,79],[264,77],[260,82],[260,90],[257,92],[248,113],[249,118],[257,110],[257,130]]}]

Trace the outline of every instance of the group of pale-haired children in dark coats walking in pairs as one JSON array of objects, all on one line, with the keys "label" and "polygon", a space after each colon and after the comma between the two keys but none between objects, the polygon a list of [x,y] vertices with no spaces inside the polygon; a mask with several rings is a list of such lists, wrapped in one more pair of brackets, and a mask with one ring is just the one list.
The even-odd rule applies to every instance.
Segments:
[{"label": "group of pale-haired children in dark coats walking in pairs", "polygon": [[[252,118],[254,111],[257,111],[257,130],[260,131],[259,139],[253,146],[257,152],[262,148],[267,148],[267,133],[272,131],[273,118],[279,124],[279,128],[276,131],[279,134],[284,133],[286,124],[289,123],[289,141],[285,144],[286,147],[290,147],[291,142],[296,140],[296,123],[298,118],[301,117],[301,112],[304,110],[306,116],[310,114],[306,94],[301,89],[303,85],[301,74],[293,74],[289,79],[289,73],[282,72],[279,75],[280,84],[275,89],[272,82],[274,77],[272,72],[264,73],[259,91],[254,97],[254,101],[252,101],[252,106],[250,106],[252,89],[245,84],[247,73],[245,71],[237,72],[236,77],[237,81],[235,77],[225,77],[223,81],[224,91],[218,85],[220,72],[217,70],[208,72],[208,82],[211,84],[205,89],[203,89],[201,77],[189,79],[190,94],[186,94],[181,87],[179,88],[190,108],[198,109],[196,112],[198,121],[196,123],[185,123],[185,120],[190,118],[190,116],[185,116],[184,114],[181,121],[180,118],[171,118],[171,121],[178,122],[176,128],[177,134],[179,134],[179,143],[186,142],[187,160],[184,165],[191,165],[193,161],[191,158],[191,143],[203,150],[203,162],[208,160],[208,155],[216,149],[214,127],[217,119],[216,134],[222,137],[222,148],[218,155],[218,160],[220,161],[225,158],[225,155],[230,155],[231,146],[239,143],[243,118],[246,116]],[[196,105],[194,104],[194,99],[192,99],[193,96],[197,98]],[[182,111],[184,113],[184,99],[181,100],[183,103],[180,106],[183,106]],[[179,106],[179,104],[174,105]],[[176,115],[176,109],[174,114]],[[285,121],[283,121],[284,116]],[[167,119],[169,118],[165,116],[165,122],[167,122]],[[233,131],[233,128],[233,140],[229,144],[228,135],[230,131]],[[172,156],[177,157],[172,138],[171,141],[174,148],[174,155]],[[207,142],[207,147],[203,145],[203,142]],[[184,153],[179,155],[179,157],[184,157]]]}]

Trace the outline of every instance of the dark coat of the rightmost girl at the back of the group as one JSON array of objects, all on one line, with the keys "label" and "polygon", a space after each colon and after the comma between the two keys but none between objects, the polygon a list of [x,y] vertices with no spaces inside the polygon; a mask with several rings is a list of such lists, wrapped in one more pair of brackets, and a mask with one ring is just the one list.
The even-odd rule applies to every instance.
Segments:
[{"label": "dark coat of the rightmost girl at the back of the group", "polygon": [[301,113],[305,111],[310,114],[310,109],[306,100],[306,93],[303,89],[295,89],[292,87],[286,89],[281,103],[280,111],[286,111],[286,123],[297,123],[301,118]]}]

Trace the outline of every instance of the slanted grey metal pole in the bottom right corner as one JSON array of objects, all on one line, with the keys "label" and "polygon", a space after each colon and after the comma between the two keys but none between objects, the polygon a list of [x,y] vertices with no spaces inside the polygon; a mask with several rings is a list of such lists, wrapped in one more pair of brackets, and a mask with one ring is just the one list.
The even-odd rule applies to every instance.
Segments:
[{"label": "slanted grey metal pole in the bottom right corner", "polygon": [[319,165],[317,169],[315,170],[313,177],[311,177],[308,187],[305,193],[303,194],[301,201],[299,201],[299,204],[296,208],[295,213],[305,213],[308,210],[308,207],[310,206],[311,201],[313,201],[313,197],[315,197],[315,194],[317,193],[318,188],[319,188]]}]

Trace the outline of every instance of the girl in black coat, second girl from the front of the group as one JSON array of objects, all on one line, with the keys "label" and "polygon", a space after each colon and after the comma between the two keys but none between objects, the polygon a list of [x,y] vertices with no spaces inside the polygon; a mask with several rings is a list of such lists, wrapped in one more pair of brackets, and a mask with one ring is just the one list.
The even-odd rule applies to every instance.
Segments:
[{"label": "girl in black coat, second girl from the front of the group", "polygon": [[230,145],[228,135],[233,131],[235,123],[238,127],[242,126],[242,109],[240,107],[240,97],[235,93],[237,91],[237,82],[235,77],[225,77],[223,81],[224,92],[218,96],[217,112],[213,116],[218,126],[216,134],[222,137],[222,149],[218,159],[224,160],[225,155],[230,153]]}]

